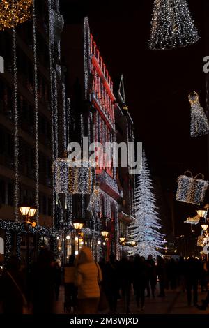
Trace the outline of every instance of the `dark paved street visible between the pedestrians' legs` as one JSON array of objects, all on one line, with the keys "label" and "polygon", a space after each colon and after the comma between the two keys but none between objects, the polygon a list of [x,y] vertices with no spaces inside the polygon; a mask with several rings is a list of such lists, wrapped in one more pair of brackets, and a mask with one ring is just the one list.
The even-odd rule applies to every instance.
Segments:
[{"label": "dark paved street visible between the pedestrians' legs", "polygon": [[[157,292],[156,292],[157,295]],[[199,304],[201,299],[206,298],[206,292],[199,292]],[[56,301],[54,312],[59,314],[69,314],[63,311],[64,289],[61,287],[59,301]],[[165,297],[146,297],[144,311],[139,311],[134,301],[134,295],[130,304],[131,313],[137,314],[209,314],[209,307],[206,311],[200,311],[195,306],[187,306],[186,292],[167,291]],[[102,312],[108,313],[108,311]],[[122,301],[118,301],[118,313],[123,313]]]}]

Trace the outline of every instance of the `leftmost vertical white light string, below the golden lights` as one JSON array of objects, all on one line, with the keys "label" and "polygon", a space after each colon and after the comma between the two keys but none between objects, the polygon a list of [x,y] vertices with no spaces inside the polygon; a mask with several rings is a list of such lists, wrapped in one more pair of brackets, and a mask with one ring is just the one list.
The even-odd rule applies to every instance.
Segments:
[{"label": "leftmost vertical white light string, below the golden lights", "polygon": [[16,30],[13,27],[13,81],[14,81],[14,118],[15,118],[15,221],[19,217],[19,199],[20,199],[20,177],[19,177],[19,115],[17,108],[17,44],[16,44]]}]

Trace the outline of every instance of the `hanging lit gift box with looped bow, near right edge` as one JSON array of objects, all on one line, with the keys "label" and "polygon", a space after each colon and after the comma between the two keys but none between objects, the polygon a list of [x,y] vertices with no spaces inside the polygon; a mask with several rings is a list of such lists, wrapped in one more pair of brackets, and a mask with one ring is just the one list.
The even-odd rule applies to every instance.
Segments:
[{"label": "hanging lit gift box with looped bow, near right edge", "polygon": [[[201,179],[198,179],[199,176]],[[208,188],[208,181],[204,180],[203,174],[199,173],[193,177],[192,172],[186,171],[177,181],[176,200],[196,205],[203,202]]]}]

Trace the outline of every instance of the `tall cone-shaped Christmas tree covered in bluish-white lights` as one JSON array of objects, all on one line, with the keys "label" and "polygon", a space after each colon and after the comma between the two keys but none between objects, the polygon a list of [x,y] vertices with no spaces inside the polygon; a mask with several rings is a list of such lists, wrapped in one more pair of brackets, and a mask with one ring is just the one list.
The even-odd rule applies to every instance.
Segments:
[{"label": "tall cone-shaped Christmas tree covered in bluish-white lights", "polygon": [[135,191],[134,212],[135,220],[130,225],[130,239],[136,241],[130,251],[131,255],[139,254],[148,257],[160,255],[157,251],[163,248],[164,235],[159,232],[160,225],[159,214],[155,206],[155,195],[152,191],[153,185],[150,180],[150,170],[143,152],[142,169],[137,177],[137,188]]}]

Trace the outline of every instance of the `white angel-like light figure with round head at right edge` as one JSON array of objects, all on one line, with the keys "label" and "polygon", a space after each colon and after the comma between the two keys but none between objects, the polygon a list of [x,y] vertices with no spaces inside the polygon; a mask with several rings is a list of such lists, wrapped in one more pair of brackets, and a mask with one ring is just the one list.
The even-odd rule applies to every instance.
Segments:
[{"label": "white angel-like light figure with round head at right edge", "polygon": [[191,92],[188,96],[191,105],[191,137],[199,137],[209,132],[208,118],[199,103],[199,95],[196,91]]}]

